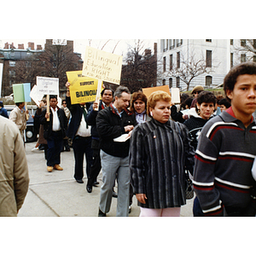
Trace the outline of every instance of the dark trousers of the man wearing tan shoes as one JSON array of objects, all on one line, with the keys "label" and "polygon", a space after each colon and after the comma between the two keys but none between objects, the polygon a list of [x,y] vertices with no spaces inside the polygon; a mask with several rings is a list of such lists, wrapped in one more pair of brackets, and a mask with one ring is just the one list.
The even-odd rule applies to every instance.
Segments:
[{"label": "dark trousers of the man wearing tan shoes", "polygon": [[61,131],[52,131],[47,139],[47,166],[60,165],[63,137]]}]

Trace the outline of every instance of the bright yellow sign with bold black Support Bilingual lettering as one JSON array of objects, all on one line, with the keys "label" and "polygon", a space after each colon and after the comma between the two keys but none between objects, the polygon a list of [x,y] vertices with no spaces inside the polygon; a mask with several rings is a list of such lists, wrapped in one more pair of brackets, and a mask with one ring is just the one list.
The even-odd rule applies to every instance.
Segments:
[{"label": "bright yellow sign with bold black Support Bilingual lettering", "polygon": [[70,83],[71,104],[94,102],[98,79],[91,79],[82,75],[82,70],[67,72],[67,81]]}]

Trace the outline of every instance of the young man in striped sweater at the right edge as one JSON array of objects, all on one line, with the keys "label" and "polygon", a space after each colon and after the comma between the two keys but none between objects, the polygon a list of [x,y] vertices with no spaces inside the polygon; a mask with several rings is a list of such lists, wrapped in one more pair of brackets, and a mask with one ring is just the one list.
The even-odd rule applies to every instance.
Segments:
[{"label": "young man in striped sweater at the right edge", "polygon": [[233,67],[224,78],[231,107],[209,120],[195,154],[193,183],[205,216],[255,216],[256,63]]}]

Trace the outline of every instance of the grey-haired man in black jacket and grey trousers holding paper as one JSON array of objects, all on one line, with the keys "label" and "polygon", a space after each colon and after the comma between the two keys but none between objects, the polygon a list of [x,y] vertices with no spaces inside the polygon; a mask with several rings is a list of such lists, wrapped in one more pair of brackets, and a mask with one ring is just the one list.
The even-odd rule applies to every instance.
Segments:
[{"label": "grey-haired man in black jacket and grey trousers holding paper", "polygon": [[[114,92],[114,102],[108,108],[97,114],[96,127],[100,136],[101,160],[102,160],[102,189],[99,206],[99,217],[106,216],[109,212],[113,183],[118,180],[118,202],[116,216],[128,216],[129,207],[129,148],[131,131],[137,125],[136,117],[127,108],[130,104],[131,93],[119,86]],[[113,139],[125,135],[123,142],[115,142]]]}]

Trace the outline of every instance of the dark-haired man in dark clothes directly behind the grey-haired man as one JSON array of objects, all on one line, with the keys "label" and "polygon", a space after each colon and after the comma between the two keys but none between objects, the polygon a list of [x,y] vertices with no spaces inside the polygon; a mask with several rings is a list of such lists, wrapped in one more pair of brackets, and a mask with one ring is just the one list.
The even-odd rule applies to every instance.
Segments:
[{"label": "dark-haired man in dark clothes directly behind the grey-haired man", "polygon": [[90,175],[88,178],[88,182],[86,185],[86,190],[88,193],[91,193],[92,186],[96,183],[96,177],[98,176],[99,172],[101,172],[102,165],[101,165],[101,157],[100,157],[100,137],[96,128],[96,116],[99,111],[104,108],[108,108],[111,102],[113,102],[113,90],[104,88],[101,92],[102,100],[99,103],[94,102],[90,105],[88,110],[88,114],[86,115],[86,122],[88,125],[91,125],[91,148],[93,150],[93,162],[90,166]]}]

